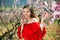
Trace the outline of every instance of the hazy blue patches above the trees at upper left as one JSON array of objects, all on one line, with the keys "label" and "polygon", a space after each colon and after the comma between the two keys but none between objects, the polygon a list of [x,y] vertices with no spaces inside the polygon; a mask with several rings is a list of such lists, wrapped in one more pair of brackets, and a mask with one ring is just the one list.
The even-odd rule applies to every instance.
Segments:
[{"label": "hazy blue patches above the trees at upper left", "polygon": [[[13,1],[14,0],[4,0],[4,6],[12,7]],[[23,5],[23,4],[25,5],[26,4],[26,0],[19,0],[18,2],[19,2],[19,4],[17,4],[17,5]],[[2,0],[0,0],[0,6],[2,6],[1,4],[2,4]]]}]

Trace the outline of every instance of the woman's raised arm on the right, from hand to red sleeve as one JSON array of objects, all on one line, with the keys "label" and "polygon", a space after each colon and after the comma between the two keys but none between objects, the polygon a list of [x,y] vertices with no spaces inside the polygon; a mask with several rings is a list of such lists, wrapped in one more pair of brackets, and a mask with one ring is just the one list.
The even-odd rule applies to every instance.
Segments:
[{"label": "woman's raised arm on the right, from hand to red sleeve", "polygon": [[42,16],[41,19],[41,30],[42,30],[42,37],[44,37],[44,35],[46,34],[46,24],[44,23],[45,19],[48,18],[48,13],[44,13],[44,16]]}]

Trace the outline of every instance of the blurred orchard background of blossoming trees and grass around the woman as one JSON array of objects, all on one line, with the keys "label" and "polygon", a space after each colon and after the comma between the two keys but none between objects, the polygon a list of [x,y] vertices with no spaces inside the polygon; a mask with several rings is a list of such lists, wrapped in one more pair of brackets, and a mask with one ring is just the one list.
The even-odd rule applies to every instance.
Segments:
[{"label": "blurred orchard background of blossoming trees and grass around the woman", "polygon": [[34,8],[40,21],[41,16],[48,13],[44,40],[60,40],[60,0],[0,0],[0,40],[19,40],[17,27],[21,8],[26,4]]}]

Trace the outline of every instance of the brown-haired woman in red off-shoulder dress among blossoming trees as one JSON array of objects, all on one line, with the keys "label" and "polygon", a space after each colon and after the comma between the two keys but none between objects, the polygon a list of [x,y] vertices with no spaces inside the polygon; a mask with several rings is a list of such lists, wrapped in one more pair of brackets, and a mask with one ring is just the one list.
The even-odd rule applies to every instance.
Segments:
[{"label": "brown-haired woman in red off-shoulder dress among blossoming trees", "polygon": [[21,20],[21,26],[18,26],[18,38],[24,38],[24,40],[43,40],[46,33],[46,29],[43,27],[46,15],[44,18],[42,17],[40,23],[36,18],[33,8],[26,5],[23,7],[23,16],[26,19],[26,23]]}]

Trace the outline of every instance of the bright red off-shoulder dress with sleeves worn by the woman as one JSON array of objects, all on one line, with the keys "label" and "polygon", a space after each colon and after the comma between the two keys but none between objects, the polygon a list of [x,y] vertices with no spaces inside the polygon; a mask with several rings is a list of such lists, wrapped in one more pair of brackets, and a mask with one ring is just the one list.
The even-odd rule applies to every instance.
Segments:
[{"label": "bright red off-shoulder dress with sleeves worn by the woman", "polygon": [[[18,38],[21,38],[21,27],[18,26]],[[43,40],[43,37],[46,33],[45,27],[43,28],[43,31],[41,31],[40,23],[39,22],[33,22],[30,24],[24,24],[24,28],[22,31],[22,36],[24,40]]]}]

